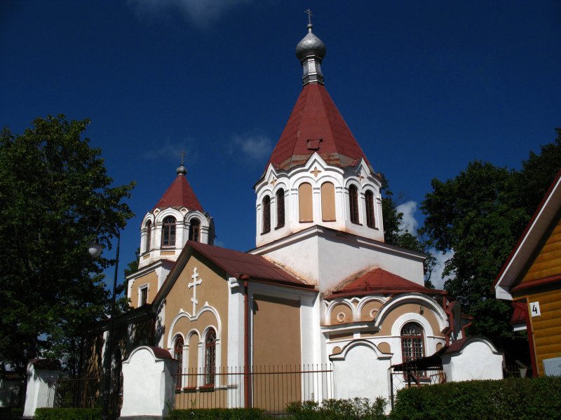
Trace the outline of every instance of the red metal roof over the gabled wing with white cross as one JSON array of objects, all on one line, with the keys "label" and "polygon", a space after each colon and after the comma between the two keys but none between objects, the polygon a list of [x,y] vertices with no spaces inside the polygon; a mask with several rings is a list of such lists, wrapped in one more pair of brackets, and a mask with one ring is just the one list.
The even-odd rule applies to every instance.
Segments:
[{"label": "red metal roof over the gabled wing with white cross", "polygon": [[187,245],[205,255],[206,258],[224,269],[231,276],[236,277],[236,279],[239,279],[242,274],[246,274],[250,279],[254,280],[314,288],[313,285],[304,283],[304,281],[288,274],[278,265],[273,264],[262,256],[202,244],[201,242],[187,241]]}]

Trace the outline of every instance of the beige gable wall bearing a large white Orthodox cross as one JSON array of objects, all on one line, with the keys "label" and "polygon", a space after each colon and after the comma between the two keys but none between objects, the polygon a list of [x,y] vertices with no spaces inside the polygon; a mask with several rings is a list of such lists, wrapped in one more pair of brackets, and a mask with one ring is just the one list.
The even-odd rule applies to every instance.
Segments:
[{"label": "beige gable wall bearing a large white Orthodox cross", "polygon": [[[189,283],[193,282],[192,276],[194,269],[197,269],[198,276],[196,280],[201,280],[201,284],[196,286],[196,311],[193,314],[193,297],[194,288],[189,288]],[[217,330],[217,338],[220,339],[221,345],[221,358],[222,365],[227,360],[228,348],[228,295],[230,293],[226,274],[204,258],[198,253],[194,253],[187,261],[181,274],[178,276],[175,284],[172,286],[170,292],[165,298],[165,332],[164,343],[168,343],[169,337],[173,337],[178,332],[182,334],[187,344],[187,337],[189,332],[197,331],[197,334],[189,340],[189,367],[194,367],[196,359],[193,359],[194,354],[198,352],[198,346],[194,345],[194,337],[196,342],[203,339],[200,335],[208,325],[213,325],[219,328],[218,320],[211,311],[204,311],[202,314],[201,309],[205,302],[208,302],[210,307],[216,309],[219,315],[219,321],[222,325],[222,331]],[[187,312],[190,316],[195,316],[196,319],[190,320],[187,317],[180,318],[173,330],[171,329],[172,323],[180,312]]]}]

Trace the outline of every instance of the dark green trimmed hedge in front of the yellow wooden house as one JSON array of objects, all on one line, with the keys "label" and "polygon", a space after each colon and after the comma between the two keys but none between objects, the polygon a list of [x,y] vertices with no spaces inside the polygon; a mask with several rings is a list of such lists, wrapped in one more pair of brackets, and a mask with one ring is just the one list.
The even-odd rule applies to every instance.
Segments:
[{"label": "dark green trimmed hedge in front of the yellow wooden house", "polygon": [[561,419],[561,377],[450,382],[402,389],[390,418]]}]

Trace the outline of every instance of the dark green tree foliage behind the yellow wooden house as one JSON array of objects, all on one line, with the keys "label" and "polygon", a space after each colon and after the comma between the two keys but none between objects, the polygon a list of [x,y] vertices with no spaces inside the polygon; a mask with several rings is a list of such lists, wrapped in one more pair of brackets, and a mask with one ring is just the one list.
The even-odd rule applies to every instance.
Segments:
[{"label": "dark green tree foliage behind the yellow wooden house", "polygon": [[470,162],[454,179],[433,179],[421,210],[421,233],[438,251],[452,255],[445,289],[473,316],[472,333],[508,334],[511,309],[496,300],[492,283],[561,165],[561,132],[553,144],[531,153],[522,169]]}]

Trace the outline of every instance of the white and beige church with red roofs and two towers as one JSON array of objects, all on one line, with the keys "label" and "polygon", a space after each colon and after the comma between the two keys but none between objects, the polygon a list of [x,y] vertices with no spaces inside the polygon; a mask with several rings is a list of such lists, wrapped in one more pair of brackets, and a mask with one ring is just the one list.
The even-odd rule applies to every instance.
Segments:
[{"label": "white and beige church with red roofs and two towers", "polygon": [[296,55],[302,92],[254,186],[255,248],[213,245],[183,164],[142,220],[112,352],[149,344],[204,372],[178,392],[229,386],[227,367],[330,363],[337,398],[388,398],[391,365],[462,336],[457,302],[424,286],[426,255],[384,243],[381,177],[327,92],[311,23]]}]

